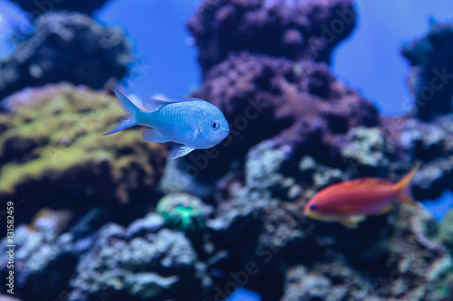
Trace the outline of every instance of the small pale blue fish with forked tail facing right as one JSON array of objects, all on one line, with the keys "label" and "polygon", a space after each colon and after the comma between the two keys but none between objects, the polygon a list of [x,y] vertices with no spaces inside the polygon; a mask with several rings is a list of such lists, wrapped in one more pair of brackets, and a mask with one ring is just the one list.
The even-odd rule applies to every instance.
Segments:
[{"label": "small pale blue fish with forked tail facing right", "polygon": [[143,99],[142,109],[130,99],[113,89],[126,117],[104,135],[135,127],[149,127],[143,131],[143,139],[149,142],[179,144],[173,148],[169,159],[188,155],[194,149],[216,146],[229,134],[228,122],[222,111],[203,99],[167,101]]}]

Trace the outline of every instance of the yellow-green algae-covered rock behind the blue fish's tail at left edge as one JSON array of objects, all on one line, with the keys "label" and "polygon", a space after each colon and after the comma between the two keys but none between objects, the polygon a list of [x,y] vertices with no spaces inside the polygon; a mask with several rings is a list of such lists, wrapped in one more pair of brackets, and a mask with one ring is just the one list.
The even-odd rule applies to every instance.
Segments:
[{"label": "yellow-green algae-covered rock behind the blue fish's tail at left edge", "polygon": [[157,183],[164,145],[141,139],[140,128],[102,136],[124,114],[110,95],[59,84],[7,102],[12,111],[0,113],[2,199],[24,200],[29,212],[43,203],[83,208],[128,202]]}]

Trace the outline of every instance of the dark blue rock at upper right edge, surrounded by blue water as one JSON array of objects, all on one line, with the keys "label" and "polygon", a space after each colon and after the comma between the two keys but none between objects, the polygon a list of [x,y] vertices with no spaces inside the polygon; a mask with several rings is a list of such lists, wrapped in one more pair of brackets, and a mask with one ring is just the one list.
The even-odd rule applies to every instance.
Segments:
[{"label": "dark blue rock at upper right edge, surrounded by blue water", "polygon": [[431,21],[428,34],[402,48],[410,61],[408,85],[415,99],[412,114],[423,120],[453,112],[453,24]]}]

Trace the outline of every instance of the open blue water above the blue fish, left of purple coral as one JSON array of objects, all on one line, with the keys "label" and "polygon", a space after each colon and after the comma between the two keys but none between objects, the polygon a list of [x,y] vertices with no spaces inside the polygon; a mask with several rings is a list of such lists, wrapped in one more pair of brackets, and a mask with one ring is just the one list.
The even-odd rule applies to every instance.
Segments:
[{"label": "open blue water above the blue fish, left of purple coral", "polygon": [[195,9],[196,2],[186,0],[117,0],[96,15],[101,22],[120,24],[134,37],[134,52],[140,57],[126,90],[141,98],[162,93],[179,99],[201,83],[197,49],[190,46],[186,29]]}]

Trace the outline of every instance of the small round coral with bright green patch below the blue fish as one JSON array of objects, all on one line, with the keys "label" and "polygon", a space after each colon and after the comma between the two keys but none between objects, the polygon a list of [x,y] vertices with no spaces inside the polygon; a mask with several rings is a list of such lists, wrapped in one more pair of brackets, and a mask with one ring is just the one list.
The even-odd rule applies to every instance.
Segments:
[{"label": "small round coral with bright green patch below the blue fish", "polygon": [[169,228],[194,231],[205,227],[212,207],[187,193],[170,193],[159,200],[156,211]]}]

